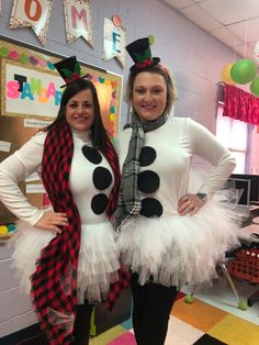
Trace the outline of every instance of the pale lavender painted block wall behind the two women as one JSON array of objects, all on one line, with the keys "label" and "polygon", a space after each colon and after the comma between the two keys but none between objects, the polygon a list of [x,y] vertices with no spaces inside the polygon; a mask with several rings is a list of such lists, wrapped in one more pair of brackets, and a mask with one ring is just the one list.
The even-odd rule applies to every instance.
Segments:
[{"label": "pale lavender painted block wall behind the two women", "polygon": [[[2,0],[0,34],[42,47],[31,29],[9,29],[11,8],[12,1]],[[94,0],[92,10],[93,49],[83,38],[66,44],[63,0],[53,1],[44,48],[65,56],[77,55],[79,60],[120,74],[126,80],[132,65],[128,56],[125,70],[121,69],[115,59],[102,62],[104,18],[111,19],[113,14],[119,14],[127,30],[128,43],[150,34],[155,36],[153,54],[160,56],[161,63],[171,70],[178,88],[179,100],[174,115],[191,116],[215,133],[216,87],[222,68],[233,60],[233,52],[158,0]],[[127,111],[123,101],[122,125],[126,122]],[[200,159],[195,164],[204,166]],[[14,287],[8,251],[0,246],[0,337],[35,321],[29,299]]]}]

